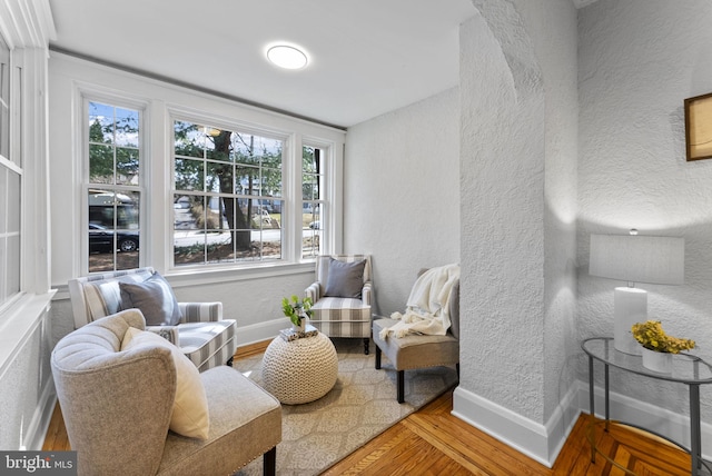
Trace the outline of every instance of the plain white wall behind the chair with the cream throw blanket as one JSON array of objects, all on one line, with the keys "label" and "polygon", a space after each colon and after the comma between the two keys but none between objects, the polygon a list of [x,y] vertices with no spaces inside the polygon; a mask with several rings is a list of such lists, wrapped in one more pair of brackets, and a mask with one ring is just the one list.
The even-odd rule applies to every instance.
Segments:
[{"label": "plain white wall behind the chair with the cream throw blanket", "polygon": [[373,255],[377,310],[404,310],[418,269],[459,261],[454,88],[348,129],[344,250]]}]

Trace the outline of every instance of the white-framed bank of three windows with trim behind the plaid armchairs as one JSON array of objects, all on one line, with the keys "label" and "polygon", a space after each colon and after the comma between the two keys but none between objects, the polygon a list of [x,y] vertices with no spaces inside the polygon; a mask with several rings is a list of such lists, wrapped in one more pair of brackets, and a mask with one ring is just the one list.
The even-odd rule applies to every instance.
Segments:
[{"label": "white-framed bank of three windows with trim behind the plaid armchairs", "polygon": [[95,68],[53,69],[72,81],[52,97],[79,100],[52,109],[77,118],[52,135],[52,240],[78,244],[53,254],[58,276],[151,266],[176,282],[251,279],[307,272],[340,248],[345,131],[132,73],[82,79]]}]

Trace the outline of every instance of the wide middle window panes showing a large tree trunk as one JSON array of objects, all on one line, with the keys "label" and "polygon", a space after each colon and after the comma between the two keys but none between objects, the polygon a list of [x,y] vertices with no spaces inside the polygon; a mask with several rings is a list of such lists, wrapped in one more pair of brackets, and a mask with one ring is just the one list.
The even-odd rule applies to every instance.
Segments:
[{"label": "wide middle window panes showing a large tree trunk", "polygon": [[283,257],[284,141],[174,121],[174,266]]}]

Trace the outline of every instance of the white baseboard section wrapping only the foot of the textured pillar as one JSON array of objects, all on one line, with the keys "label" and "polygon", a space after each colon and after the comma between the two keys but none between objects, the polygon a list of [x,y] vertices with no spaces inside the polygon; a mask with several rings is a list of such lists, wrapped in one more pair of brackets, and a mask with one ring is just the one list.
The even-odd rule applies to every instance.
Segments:
[{"label": "white baseboard section wrapping only the foot of the textured pillar", "polygon": [[574,385],[546,425],[542,425],[457,387],[453,415],[551,468],[581,413]]}]

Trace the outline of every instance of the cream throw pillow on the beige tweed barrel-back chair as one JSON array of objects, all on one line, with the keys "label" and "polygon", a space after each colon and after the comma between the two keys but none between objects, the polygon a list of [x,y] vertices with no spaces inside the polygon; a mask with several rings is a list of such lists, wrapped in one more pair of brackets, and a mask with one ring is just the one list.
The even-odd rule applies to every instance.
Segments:
[{"label": "cream throw pillow on the beige tweed barrel-back chair", "polygon": [[121,350],[149,346],[170,349],[176,365],[177,388],[174,413],[170,417],[170,429],[191,438],[208,438],[208,398],[200,381],[200,374],[195,365],[178,347],[157,334],[129,327],[121,341]]}]

